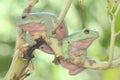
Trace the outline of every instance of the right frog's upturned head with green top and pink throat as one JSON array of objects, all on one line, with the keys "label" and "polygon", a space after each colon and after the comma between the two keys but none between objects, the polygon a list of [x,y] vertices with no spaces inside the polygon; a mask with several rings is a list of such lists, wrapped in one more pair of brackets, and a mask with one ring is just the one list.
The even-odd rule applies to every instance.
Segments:
[{"label": "right frog's upturned head with green top and pink throat", "polygon": [[98,38],[98,32],[93,30],[84,29],[76,32],[67,38],[70,48],[69,51],[72,51],[72,48],[85,51],[96,38]]}]

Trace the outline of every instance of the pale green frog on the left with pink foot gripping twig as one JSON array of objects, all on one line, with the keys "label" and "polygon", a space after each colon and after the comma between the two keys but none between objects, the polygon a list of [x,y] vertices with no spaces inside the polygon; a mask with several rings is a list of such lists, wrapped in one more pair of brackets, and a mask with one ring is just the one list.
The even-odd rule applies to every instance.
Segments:
[{"label": "pale green frog on the left with pink foot gripping twig", "polygon": [[49,37],[54,36],[57,39],[62,39],[67,36],[64,22],[56,30],[56,33],[52,33],[57,17],[50,12],[29,13],[25,18],[20,17],[17,21],[19,27],[28,31],[33,40],[42,37],[47,43],[50,43]]}]

